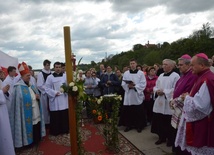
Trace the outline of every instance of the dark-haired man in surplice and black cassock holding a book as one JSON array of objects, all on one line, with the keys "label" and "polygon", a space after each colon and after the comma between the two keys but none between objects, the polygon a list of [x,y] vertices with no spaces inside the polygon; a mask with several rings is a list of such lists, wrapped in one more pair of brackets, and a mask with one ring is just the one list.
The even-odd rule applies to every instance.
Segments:
[{"label": "dark-haired man in surplice and black cassock holding a book", "polygon": [[130,70],[123,75],[122,87],[125,90],[125,97],[119,125],[126,126],[125,132],[132,128],[141,132],[146,125],[145,113],[143,112],[143,91],[146,87],[146,78],[136,66],[136,60],[131,59]]}]

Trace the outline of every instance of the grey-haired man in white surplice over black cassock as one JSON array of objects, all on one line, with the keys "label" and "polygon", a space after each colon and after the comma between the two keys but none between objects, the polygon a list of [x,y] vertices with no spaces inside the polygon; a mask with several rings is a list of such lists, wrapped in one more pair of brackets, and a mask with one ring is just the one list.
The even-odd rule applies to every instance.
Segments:
[{"label": "grey-haired man in white surplice over black cassock", "polygon": [[164,73],[160,74],[153,88],[156,99],[153,106],[151,132],[159,136],[158,141],[155,142],[156,145],[165,142],[167,139],[167,146],[172,146],[173,128],[171,126],[171,117],[173,111],[169,102],[180,76],[174,72],[174,61],[170,59],[163,60],[163,70]]}]

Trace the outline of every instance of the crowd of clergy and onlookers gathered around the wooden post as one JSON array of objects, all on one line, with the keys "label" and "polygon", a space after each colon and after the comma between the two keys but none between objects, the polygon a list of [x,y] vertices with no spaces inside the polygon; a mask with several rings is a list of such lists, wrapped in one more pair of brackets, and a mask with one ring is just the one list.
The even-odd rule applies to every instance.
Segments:
[{"label": "crowd of clergy and onlookers gathered around the wooden post", "polygon": [[[99,70],[78,70],[88,96],[121,95],[118,126],[124,132],[142,132],[151,125],[157,134],[155,145],[166,142],[176,155],[214,154],[214,56],[182,55],[177,62],[139,65],[135,59],[120,70],[100,64]],[[69,133],[68,95],[65,64],[43,61],[35,77],[31,66],[22,62],[9,66],[7,76],[0,68],[0,154],[38,145],[49,130],[51,135]],[[19,75],[17,75],[17,71]],[[91,118],[89,102],[87,117]],[[200,134],[199,134],[200,133]]]}]

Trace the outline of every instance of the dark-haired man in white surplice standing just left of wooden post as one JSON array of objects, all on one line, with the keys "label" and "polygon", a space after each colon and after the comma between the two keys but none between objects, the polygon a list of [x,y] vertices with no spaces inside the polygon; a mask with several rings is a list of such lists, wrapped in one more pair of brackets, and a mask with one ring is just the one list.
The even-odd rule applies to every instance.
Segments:
[{"label": "dark-haired man in white surplice standing just left of wooden post", "polygon": [[49,97],[50,134],[59,135],[69,132],[68,95],[60,92],[66,82],[66,74],[61,71],[61,63],[54,63],[54,73],[47,77],[45,92]]}]

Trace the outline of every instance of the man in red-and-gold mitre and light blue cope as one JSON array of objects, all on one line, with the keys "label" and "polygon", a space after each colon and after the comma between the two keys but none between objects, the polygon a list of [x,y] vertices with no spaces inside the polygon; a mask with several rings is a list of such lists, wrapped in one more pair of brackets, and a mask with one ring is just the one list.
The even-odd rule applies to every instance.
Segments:
[{"label": "man in red-and-gold mitre and light blue cope", "polygon": [[45,136],[45,124],[39,92],[30,84],[30,70],[25,62],[18,65],[21,79],[14,85],[10,124],[15,148],[38,144]]}]

